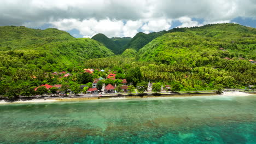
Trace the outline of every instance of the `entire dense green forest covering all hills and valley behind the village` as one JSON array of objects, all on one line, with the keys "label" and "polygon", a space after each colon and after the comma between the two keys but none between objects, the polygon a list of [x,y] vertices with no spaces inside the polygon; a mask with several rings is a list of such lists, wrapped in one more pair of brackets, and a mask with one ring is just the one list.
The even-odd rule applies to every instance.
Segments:
[{"label": "entire dense green forest covering all hills and valley behind the village", "polygon": [[[249,62],[256,59],[255,28],[224,23],[107,41],[115,46],[54,28],[0,27],[0,95],[34,95],[46,83],[72,89],[110,73],[137,88],[148,81],[175,91],[256,85],[256,64]],[[85,68],[96,70],[88,74]]]}]

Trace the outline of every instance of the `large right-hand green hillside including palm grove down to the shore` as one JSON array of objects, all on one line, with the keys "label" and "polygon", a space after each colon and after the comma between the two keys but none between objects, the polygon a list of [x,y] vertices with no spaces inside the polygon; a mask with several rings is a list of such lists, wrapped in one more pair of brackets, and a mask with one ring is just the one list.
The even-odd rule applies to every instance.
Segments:
[{"label": "large right-hand green hillside including palm grove down to the shore", "polygon": [[255,58],[256,29],[232,23],[172,29],[136,57],[153,63],[141,67],[146,79],[179,82],[187,88],[255,85],[256,65],[248,61]]}]

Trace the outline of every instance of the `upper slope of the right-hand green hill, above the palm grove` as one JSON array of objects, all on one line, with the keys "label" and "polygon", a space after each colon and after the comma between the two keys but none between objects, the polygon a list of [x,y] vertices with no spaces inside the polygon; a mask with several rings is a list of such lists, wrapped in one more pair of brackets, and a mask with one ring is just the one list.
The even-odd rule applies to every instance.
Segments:
[{"label": "upper slope of the right-hand green hill, above the palm grove", "polygon": [[[256,29],[226,23],[194,28],[176,28],[158,37],[138,52],[142,61],[190,64],[191,55],[255,59]],[[224,48],[223,51],[219,48]],[[174,55],[177,55],[174,57]],[[192,60],[193,61],[193,60]]]}]

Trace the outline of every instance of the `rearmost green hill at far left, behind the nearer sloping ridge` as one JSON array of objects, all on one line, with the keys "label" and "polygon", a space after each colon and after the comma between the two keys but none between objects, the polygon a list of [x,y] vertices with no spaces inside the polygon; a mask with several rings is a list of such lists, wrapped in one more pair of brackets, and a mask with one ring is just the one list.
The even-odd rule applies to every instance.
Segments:
[{"label": "rearmost green hill at far left, behind the nearer sloping ridge", "polygon": [[54,41],[73,39],[64,31],[56,28],[32,29],[24,26],[0,27],[0,50],[13,50],[26,46],[40,46]]}]

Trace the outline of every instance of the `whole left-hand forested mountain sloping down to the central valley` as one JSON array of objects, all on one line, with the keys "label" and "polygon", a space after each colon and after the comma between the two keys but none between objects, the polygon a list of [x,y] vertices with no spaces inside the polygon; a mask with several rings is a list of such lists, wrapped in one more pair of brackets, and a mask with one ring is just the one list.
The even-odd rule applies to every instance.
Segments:
[{"label": "whole left-hand forested mountain sloping down to the central valley", "polygon": [[[107,47],[89,38],[73,38],[54,28],[0,27],[1,74],[17,69],[67,70],[85,59],[113,56]],[[7,72],[8,73],[8,72]]]}]

